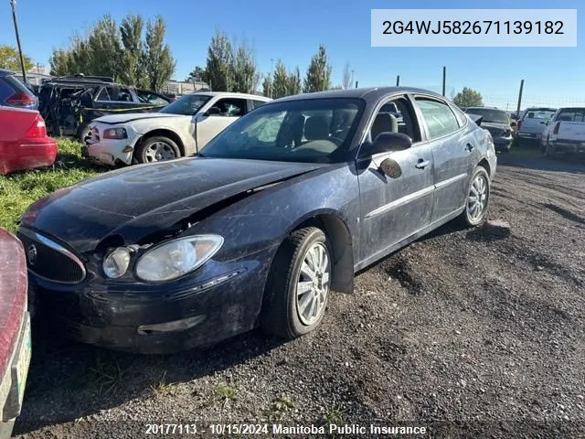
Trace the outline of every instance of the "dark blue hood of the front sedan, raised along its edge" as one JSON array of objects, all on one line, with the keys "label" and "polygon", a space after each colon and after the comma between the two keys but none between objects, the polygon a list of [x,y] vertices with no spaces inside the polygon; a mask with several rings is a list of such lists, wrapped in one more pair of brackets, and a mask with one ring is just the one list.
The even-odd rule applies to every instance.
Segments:
[{"label": "dark blue hood of the front sedan, raised along its edge", "polygon": [[225,198],[322,166],[205,157],[130,166],[41,198],[22,224],[78,252],[114,234],[131,244]]}]

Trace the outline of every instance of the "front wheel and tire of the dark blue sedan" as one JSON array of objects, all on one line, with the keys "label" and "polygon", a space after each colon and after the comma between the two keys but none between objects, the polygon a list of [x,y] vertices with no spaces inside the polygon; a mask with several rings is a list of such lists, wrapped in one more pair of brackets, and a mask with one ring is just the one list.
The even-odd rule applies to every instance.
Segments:
[{"label": "front wheel and tire of the dark blue sedan", "polygon": [[[323,230],[306,227],[295,230],[282,242],[269,274],[261,310],[261,327],[268,334],[293,339],[318,327],[331,293],[332,252]],[[325,255],[317,263],[313,279],[314,255]],[[321,276],[319,276],[321,274]],[[299,290],[303,291],[303,293]],[[314,311],[311,309],[314,306]]]}]

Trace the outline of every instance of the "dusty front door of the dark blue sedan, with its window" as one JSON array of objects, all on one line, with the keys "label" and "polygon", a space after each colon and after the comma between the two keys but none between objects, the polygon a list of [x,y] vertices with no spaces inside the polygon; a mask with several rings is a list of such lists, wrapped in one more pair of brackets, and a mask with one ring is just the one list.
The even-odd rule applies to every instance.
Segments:
[{"label": "dusty front door of the dark blue sedan, with its window", "polygon": [[[413,144],[403,151],[362,156],[357,160],[362,266],[388,254],[401,246],[401,241],[431,224],[434,197],[431,148],[424,141],[407,96],[384,103],[370,127],[365,145],[374,142],[378,134],[395,130],[409,135]],[[388,103],[396,104],[399,117],[388,112]],[[385,122],[391,118],[396,125]],[[391,176],[380,168],[386,159],[392,166]]]}]

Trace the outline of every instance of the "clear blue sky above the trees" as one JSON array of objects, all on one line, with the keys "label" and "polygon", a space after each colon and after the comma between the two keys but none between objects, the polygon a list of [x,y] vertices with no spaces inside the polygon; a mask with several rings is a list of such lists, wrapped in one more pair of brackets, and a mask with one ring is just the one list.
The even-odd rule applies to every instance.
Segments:
[{"label": "clear blue sky above the trees", "polygon": [[[50,5],[49,5],[50,4]],[[377,8],[577,8],[577,48],[372,48],[371,9]],[[104,14],[118,22],[129,13],[164,16],[166,42],[176,58],[176,79],[205,66],[207,46],[216,30],[246,40],[258,67],[271,70],[271,59],[303,74],[319,44],[327,48],[332,82],[341,83],[345,64],[358,85],[409,85],[441,91],[447,68],[447,95],[471,87],[484,103],[514,110],[520,80],[527,105],[585,104],[585,41],[582,0],[461,0],[395,2],[390,0],[17,0],[23,51],[48,66],[53,48],[66,47],[74,32],[84,33]],[[585,7],[583,8],[585,9]],[[9,0],[0,5],[0,44],[16,46]],[[524,107],[525,105],[523,105]]]}]

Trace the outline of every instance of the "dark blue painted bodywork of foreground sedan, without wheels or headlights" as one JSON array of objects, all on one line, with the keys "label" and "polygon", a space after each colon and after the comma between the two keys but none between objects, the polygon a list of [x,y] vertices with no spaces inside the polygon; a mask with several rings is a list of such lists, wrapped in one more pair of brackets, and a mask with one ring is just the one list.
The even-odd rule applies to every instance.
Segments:
[{"label": "dark blue painted bodywork of foreground sedan, without wheels or headlights", "polygon": [[[407,93],[441,100],[406,88],[309,96],[364,102],[341,163],[186,158],[121,169],[41,199],[23,216],[19,237],[35,243],[38,232],[77,255],[86,270],[79,282],[58,284],[30,267],[41,314],[70,337],[109,348],[163,352],[214,343],[258,325],[274,254],[306,223],[332,241],[332,289],[352,292],[357,270],[463,211],[475,166],[495,173],[493,145],[469,120],[448,138],[429,141],[423,132],[416,149],[391,153],[401,169],[394,180],[379,171],[388,153],[360,155],[371,144],[369,127],[381,105],[395,95],[412,99]],[[457,151],[454,161],[447,147]],[[223,247],[176,281],[143,283],[133,267],[116,280],[101,273],[112,246],[205,233],[220,233]],[[141,329],[187,317],[193,326],[171,335]]]}]

